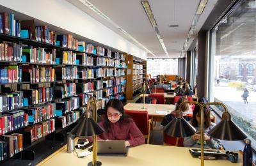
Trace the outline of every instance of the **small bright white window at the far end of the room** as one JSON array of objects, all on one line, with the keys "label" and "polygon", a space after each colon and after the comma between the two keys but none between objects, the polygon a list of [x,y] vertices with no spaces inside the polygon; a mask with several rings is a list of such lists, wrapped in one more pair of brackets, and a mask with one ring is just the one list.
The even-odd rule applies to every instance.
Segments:
[{"label": "small bright white window at the far end of the room", "polygon": [[177,75],[178,59],[147,59],[147,74],[151,77],[157,75]]}]

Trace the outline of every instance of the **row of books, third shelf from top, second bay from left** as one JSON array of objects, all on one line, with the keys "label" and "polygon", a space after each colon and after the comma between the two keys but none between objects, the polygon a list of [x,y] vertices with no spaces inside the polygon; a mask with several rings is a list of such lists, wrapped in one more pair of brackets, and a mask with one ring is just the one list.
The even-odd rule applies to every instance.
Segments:
[{"label": "row of books, third shelf from top, second bay from left", "polygon": [[55,80],[55,70],[56,68],[50,66],[22,66],[22,81],[31,83],[53,82]]}]

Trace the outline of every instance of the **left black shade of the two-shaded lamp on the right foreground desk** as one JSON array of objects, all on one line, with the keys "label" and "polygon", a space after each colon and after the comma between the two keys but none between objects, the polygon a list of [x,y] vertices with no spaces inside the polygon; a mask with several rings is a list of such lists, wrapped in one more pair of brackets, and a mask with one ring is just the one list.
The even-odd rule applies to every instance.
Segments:
[{"label": "left black shade of the two-shaded lamp on the right foreground desk", "polygon": [[164,126],[164,133],[172,137],[189,137],[196,132],[195,128],[188,123],[183,117],[175,118],[166,126]]}]

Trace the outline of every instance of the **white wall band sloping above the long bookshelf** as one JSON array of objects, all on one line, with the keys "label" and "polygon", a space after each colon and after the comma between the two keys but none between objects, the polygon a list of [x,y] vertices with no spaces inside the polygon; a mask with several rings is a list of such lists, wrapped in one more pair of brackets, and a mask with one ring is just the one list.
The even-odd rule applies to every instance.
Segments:
[{"label": "white wall band sloping above the long bookshelf", "polygon": [[0,4],[132,56],[147,59],[147,52],[66,0],[0,0]]}]

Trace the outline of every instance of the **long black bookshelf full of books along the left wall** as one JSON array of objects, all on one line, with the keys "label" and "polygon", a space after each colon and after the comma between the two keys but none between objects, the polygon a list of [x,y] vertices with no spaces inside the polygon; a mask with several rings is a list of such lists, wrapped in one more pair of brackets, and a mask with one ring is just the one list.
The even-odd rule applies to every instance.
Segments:
[{"label": "long black bookshelf full of books along the left wall", "polygon": [[126,53],[24,17],[0,13],[3,165],[35,165],[60,148],[90,96],[97,109],[111,98],[126,102]]}]

